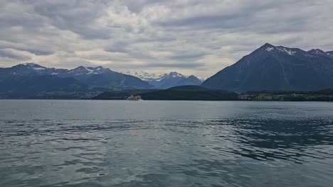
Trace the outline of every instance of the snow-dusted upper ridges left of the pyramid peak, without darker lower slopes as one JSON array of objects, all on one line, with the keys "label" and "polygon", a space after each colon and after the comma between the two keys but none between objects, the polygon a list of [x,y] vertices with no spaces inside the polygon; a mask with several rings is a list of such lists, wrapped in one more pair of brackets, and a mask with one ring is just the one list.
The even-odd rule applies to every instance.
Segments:
[{"label": "snow-dusted upper ridges left of the pyramid peak, without darker lower slopes", "polygon": [[12,76],[31,77],[53,75],[62,78],[72,77],[89,86],[106,88],[123,87],[124,89],[167,89],[172,86],[200,85],[202,83],[201,79],[194,75],[185,76],[178,72],[169,72],[160,75],[148,74],[143,71],[140,72],[141,74],[136,72],[121,73],[101,66],[79,66],[73,69],[57,69],[53,67],[43,67],[33,62],[0,68],[0,72],[0,80]]}]

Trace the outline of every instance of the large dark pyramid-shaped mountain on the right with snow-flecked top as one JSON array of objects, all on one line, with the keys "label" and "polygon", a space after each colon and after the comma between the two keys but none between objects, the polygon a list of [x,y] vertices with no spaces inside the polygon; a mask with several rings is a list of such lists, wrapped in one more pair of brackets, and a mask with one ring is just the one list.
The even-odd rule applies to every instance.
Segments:
[{"label": "large dark pyramid-shaped mountain on the right with snow-flecked top", "polygon": [[314,91],[333,88],[333,52],[266,43],[201,84],[229,91]]}]

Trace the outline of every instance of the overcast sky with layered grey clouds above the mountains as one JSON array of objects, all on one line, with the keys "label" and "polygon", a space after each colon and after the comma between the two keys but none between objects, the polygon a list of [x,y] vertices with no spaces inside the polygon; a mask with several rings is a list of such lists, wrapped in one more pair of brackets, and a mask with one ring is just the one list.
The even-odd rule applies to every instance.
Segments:
[{"label": "overcast sky with layered grey clouds above the mountains", "polygon": [[333,50],[332,0],[0,0],[0,67],[210,77],[265,42]]}]

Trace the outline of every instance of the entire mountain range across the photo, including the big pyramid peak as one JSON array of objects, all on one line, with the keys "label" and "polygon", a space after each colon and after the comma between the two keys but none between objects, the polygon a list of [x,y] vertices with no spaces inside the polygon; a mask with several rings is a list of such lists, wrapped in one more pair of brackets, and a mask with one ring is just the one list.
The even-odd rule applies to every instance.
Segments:
[{"label": "entire mountain range across the photo, including the big pyramid peak", "polygon": [[104,67],[56,69],[34,63],[0,68],[0,98],[91,98],[103,91],[202,86],[225,91],[318,91],[333,88],[333,51],[266,43],[203,81],[177,72],[115,72]]}]

